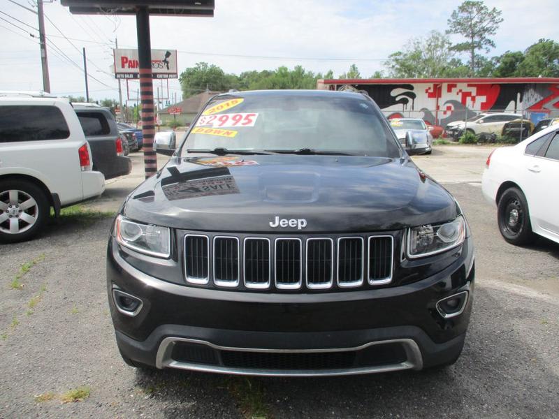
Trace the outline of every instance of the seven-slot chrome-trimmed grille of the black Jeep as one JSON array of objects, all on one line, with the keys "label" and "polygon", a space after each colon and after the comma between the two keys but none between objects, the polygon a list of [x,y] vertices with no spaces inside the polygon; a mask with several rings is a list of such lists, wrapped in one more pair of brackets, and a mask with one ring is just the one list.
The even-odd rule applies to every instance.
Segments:
[{"label": "seven-slot chrome-trimmed grille of the black Jeep", "polygon": [[189,284],[249,290],[328,290],[390,284],[392,235],[184,236]]}]

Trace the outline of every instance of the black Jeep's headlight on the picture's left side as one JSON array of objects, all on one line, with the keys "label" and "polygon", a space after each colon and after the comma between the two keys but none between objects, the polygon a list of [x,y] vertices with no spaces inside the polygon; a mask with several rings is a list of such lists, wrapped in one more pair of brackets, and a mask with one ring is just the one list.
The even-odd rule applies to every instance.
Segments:
[{"label": "black Jeep's headlight on the picture's left side", "polygon": [[117,242],[140,253],[159,258],[170,255],[170,233],[167,227],[141,224],[117,216],[115,225]]}]

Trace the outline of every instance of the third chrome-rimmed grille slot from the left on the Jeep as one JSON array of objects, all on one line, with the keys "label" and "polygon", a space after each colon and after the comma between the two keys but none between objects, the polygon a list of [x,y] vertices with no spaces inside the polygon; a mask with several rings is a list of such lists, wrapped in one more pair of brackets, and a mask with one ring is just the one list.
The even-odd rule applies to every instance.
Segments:
[{"label": "third chrome-rimmed grille slot from the left on the Jeep", "polygon": [[270,286],[270,240],[245,240],[245,286],[268,288]]}]

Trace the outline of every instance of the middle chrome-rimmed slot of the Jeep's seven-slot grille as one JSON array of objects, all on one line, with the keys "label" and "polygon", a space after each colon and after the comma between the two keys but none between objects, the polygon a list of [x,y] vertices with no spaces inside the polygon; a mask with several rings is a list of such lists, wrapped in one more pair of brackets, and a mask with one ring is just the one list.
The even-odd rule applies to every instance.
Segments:
[{"label": "middle chrome-rimmed slot of the Jeep's seven-slot grille", "polygon": [[301,277],[301,240],[277,239],[275,241],[275,284],[277,288],[300,288]]}]

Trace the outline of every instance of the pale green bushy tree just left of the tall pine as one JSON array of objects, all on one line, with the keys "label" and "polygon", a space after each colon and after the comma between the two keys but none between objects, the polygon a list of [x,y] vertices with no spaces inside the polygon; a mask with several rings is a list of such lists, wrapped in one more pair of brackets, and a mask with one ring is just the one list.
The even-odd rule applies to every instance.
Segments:
[{"label": "pale green bushy tree just left of the tall pine", "polygon": [[459,77],[465,68],[451,45],[448,36],[430,31],[426,38],[412,38],[403,51],[390,54],[384,66],[395,78]]}]

